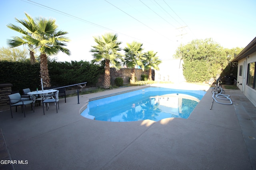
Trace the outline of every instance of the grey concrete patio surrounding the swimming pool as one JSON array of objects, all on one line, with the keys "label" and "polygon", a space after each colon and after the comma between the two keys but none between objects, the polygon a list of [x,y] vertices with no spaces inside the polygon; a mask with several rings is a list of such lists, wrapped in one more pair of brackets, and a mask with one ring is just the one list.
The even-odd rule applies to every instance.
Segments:
[{"label": "grey concrete patio surrounding the swimming pool", "polygon": [[[191,84],[161,86],[208,90]],[[25,118],[20,108],[12,108],[13,119],[10,109],[0,112],[1,160],[17,161],[1,163],[0,169],[256,170],[256,110],[240,90],[225,90],[233,105],[214,102],[212,109],[208,90],[188,119],[107,122],[79,114],[89,98],[141,87],[81,95],[80,104],[77,96],[67,103],[63,98],[58,113],[52,104],[45,115],[42,106],[34,113],[27,106]]]}]

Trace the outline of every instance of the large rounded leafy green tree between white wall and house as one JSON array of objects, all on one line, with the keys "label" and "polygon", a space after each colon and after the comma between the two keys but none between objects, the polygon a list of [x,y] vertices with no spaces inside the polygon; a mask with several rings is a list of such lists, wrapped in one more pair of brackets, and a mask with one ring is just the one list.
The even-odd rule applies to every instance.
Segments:
[{"label": "large rounded leafy green tree between white wall and house", "polygon": [[[220,74],[227,65],[226,53],[218,43],[210,39],[195,39],[186,45],[180,45],[175,57],[182,57],[184,61],[183,73],[187,81],[208,81],[209,77]],[[191,75],[197,73],[197,79]],[[200,75],[200,78],[198,77]]]}]

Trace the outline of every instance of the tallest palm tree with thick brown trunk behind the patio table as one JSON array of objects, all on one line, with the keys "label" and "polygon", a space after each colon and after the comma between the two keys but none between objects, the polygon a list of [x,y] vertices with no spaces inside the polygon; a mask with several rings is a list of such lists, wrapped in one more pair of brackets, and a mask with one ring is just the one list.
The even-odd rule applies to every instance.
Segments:
[{"label": "tallest palm tree with thick brown trunk behind the patio table", "polygon": [[59,51],[70,55],[70,51],[66,48],[64,42],[68,42],[66,38],[68,32],[58,31],[58,26],[55,24],[55,20],[38,17],[35,20],[26,14],[28,20],[15,20],[21,23],[25,28],[16,26],[14,24],[8,24],[7,27],[18,31],[22,34],[21,37],[12,37],[7,39],[8,45],[18,47],[25,45],[30,50],[31,62],[35,62],[34,51],[40,52],[40,74],[43,80],[44,87],[50,87],[50,77],[48,72],[47,55],[56,55]]}]

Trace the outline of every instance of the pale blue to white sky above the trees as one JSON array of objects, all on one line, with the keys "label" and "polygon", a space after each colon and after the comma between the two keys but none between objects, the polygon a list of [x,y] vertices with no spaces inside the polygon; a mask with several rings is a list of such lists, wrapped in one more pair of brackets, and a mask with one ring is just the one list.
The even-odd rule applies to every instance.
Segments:
[{"label": "pale blue to white sky above the trees", "polygon": [[17,19],[56,20],[71,41],[57,61],[91,61],[94,37],[117,33],[120,47],[137,41],[144,52],[171,60],[180,44],[212,38],[224,48],[246,47],[256,37],[256,0],[0,0],[0,48],[19,33]]}]

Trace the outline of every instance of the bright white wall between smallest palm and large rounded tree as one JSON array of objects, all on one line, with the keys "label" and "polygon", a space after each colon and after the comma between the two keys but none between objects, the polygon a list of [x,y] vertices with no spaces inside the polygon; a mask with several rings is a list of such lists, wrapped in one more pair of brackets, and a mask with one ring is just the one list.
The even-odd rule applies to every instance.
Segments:
[{"label": "bright white wall between smallest palm and large rounded tree", "polygon": [[181,59],[163,60],[159,70],[155,70],[155,81],[184,82],[182,64]]}]

